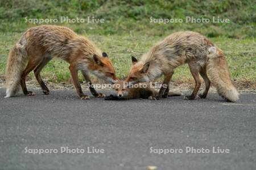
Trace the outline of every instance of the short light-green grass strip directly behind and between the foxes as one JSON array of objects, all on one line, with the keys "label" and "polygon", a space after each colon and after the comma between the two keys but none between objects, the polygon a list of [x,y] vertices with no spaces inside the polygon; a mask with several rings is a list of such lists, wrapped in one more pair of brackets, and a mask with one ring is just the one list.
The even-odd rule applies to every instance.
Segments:
[{"label": "short light-green grass strip directly behind and between the foxes", "polygon": [[[19,39],[21,34],[9,34],[0,36],[0,75],[4,74],[7,55],[9,49]],[[102,52],[107,52],[114,63],[115,70],[119,78],[125,78],[131,67],[131,55],[140,58],[143,53],[156,42],[163,39],[159,36],[95,36],[90,35]],[[256,80],[256,42],[255,39],[228,39],[226,37],[217,37],[210,39],[217,44],[226,54],[229,63],[229,70],[233,80],[255,82]],[[30,74],[34,77],[33,74]],[[59,59],[53,59],[42,71],[44,79],[50,82],[67,82],[71,77],[68,69],[68,63]],[[81,76],[80,76],[80,79]],[[192,76],[188,66],[178,67],[174,74],[175,81],[191,80]]]}]

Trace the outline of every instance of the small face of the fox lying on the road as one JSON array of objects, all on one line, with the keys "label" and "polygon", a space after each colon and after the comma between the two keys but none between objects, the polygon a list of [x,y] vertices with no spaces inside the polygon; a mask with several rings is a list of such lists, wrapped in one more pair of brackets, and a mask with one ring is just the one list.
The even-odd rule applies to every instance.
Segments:
[{"label": "small face of the fox lying on the road", "polygon": [[115,97],[122,98],[128,95],[128,83],[125,81],[118,81],[113,84],[114,93],[112,94]]}]

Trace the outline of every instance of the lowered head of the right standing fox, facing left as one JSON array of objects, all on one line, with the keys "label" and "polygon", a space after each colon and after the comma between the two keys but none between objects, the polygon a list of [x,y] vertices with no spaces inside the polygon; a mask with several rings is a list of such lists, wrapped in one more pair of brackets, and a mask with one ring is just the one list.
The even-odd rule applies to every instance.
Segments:
[{"label": "lowered head of the right standing fox, facing left", "polygon": [[131,61],[133,62],[133,66],[131,66],[131,70],[126,81],[131,84],[149,82],[150,78],[148,77],[148,69],[150,67],[150,63],[138,62],[138,60],[133,56],[131,57]]}]

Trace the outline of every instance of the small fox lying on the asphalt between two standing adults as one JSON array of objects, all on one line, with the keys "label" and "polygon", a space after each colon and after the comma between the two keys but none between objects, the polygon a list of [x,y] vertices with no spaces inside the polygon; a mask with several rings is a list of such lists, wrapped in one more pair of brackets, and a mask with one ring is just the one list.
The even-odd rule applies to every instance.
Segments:
[{"label": "small fox lying on the asphalt between two standing adults", "polygon": [[[158,91],[150,87],[150,83],[139,83],[138,87],[129,88],[128,82],[118,81],[113,84],[114,93],[106,96],[105,100],[127,100],[127,99],[158,99]],[[181,96],[179,92],[169,92],[168,96]]]}]

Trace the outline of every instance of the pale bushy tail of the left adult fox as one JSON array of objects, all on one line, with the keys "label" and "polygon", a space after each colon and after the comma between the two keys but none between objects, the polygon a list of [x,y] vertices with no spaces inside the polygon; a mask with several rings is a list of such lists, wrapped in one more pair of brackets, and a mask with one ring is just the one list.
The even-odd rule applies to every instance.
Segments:
[{"label": "pale bushy tail of the left adult fox", "polygon": [[24,37],[10,50],[6,65],[6,96],[14,96],[19,90],[20,78],[27,62],[27,52]]}]

